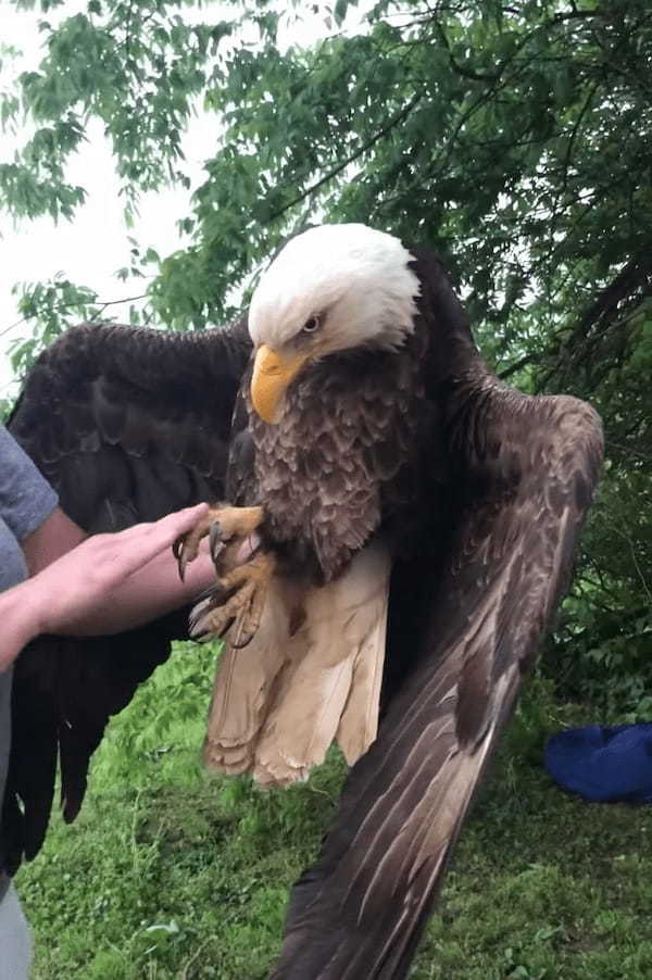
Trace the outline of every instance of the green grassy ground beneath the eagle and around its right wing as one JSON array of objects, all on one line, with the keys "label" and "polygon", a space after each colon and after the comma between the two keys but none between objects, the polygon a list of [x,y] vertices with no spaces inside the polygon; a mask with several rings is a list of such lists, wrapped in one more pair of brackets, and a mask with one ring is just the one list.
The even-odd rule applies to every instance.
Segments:
[{"label": "green grassy ground beneath the eagle and around its right wing", "polygon": [[[206,778],[197,746],[211,674],[191,649],[159,673],[114,723],[77,822],[57,819],[21,871],[36,980],[266,976],[343,767],[334,754],[308,786],[278,793]],[[584,804],[540,767],[544,736],[586,720],[530,688],[414,980],[652,978],[652,809]]]}]

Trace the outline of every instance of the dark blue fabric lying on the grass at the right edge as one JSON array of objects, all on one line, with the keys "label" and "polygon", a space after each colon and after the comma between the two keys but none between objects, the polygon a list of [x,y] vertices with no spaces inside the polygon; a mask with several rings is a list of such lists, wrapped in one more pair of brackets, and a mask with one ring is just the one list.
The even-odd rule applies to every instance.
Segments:
[{"label": "dark blue fabric lying on the grass at the right edge", "polygon": [[555,782],[601,803],[652,803],[652,723],[562,731],[544,764]]}]

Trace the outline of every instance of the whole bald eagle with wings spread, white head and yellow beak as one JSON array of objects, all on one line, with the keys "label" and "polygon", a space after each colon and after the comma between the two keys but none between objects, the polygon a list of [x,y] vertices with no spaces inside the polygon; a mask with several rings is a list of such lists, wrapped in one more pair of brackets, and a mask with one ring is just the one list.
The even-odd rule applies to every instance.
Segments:
[{"label": "whole bald eagle with wings spread, white head and yellow beak", "polygon": [[[228,329],[70,330],[11,428],[90,531],[215,503],[178,551],[209,532],[218,571],[190,619],[226,638],[208,762],[284,784],[336,739],[353,764],[273,976],[405,977],[568,585],[595,413],[502,385],[432,253],[341,225],[292,239]],[[73,819],[109,716],[185,635],[181,613],[23,653],[10,867],[42,842],[57,758]]]}]

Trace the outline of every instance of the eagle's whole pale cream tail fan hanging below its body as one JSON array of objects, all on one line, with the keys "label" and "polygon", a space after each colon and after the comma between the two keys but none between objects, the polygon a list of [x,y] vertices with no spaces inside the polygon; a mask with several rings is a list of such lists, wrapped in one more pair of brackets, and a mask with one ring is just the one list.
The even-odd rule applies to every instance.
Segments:
[{"label": "eagle's whole pale cream tail fan hanging below its body", "polygon": [[376,738],[390,562],[374,544],[336,582],[303,598],[275,579],[261,628],[244,650],[226,645],[204,757],[212,768],[251,771],[263,786],[304,779],[334,740],[352,765]]}]

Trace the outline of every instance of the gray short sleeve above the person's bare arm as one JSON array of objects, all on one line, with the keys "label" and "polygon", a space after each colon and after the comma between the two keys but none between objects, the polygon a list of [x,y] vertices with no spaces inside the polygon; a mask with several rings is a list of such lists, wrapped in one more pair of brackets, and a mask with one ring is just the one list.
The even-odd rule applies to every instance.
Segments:
[{"label": "gray short sleeve above the person's bare arm", "polygon": [[15,439],[0,425],[0,516],[18,541],[49,517],[59,498]]}]

